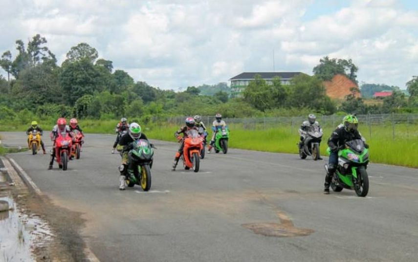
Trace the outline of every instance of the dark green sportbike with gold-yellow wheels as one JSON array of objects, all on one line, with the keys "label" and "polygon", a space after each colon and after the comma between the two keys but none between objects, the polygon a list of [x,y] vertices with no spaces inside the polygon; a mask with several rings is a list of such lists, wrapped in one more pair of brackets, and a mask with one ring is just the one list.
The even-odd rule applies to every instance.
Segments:
[{"label": "dark green sportbike with gold-yellow wheels", "polygon": [[126,183],[128,187],[140,185],[143,191],[151,189],[151,167],[153,165],[154,146],[145,139],[132,142],[128,153],[128,167],[133,163],[133,170],[128,168]]}]

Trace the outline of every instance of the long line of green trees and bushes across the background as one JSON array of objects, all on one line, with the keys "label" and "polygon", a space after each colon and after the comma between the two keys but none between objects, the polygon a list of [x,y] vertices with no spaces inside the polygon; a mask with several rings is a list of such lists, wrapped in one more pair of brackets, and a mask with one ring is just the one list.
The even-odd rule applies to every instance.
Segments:
[{"label": "long line of green trees and bushes across the background", "polygon": [[[344,74],[357,83],[358,68],[351,60],[325,57],[313,68],[313,76],[300,74],[290,85],[282,85],[278,78],[270,85],[257,77],[242,97],[231,98],[226,83],[175,92],[152,87],[144,81],[135,82],[126,71],[114,69],[112,61],[99,58],[97,50],[86,43],[71,47],[61,66],[39,34],[27,44],[17,40],[16,49],[15,57],[7,50],[0,60],[7,73],[7,78],[0,76],[0,120],[5,121],[27,123],[32,118],[60,116],[82,119],[126,116],[149,121],[155,115],[217,112],[225,117],[252,117],[377,110],[354,95],[347,96],[342,104],[326,95],[322,81],[332,79],[335,74]],[[416,107],[417,87],[418,80],[414,77],[408,82],[409,101],[394,93],[388,98],[387,108]]]}]

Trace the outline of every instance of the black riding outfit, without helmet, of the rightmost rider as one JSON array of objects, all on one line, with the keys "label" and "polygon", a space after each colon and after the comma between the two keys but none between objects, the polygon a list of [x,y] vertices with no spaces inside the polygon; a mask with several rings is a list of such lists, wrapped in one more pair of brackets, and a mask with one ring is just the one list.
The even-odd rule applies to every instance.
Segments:
[{"label": "black riding outfit, without helmet, of the rightmost rider", "polygon": [[331,153],[328,160],[328,173],[325,176],[326,188],[330,187],[332,175],[334,175],[337,168],[338,150],[344,147],[346,142],[352,141],[354,139],[362,139],[364,141],[364,138],[361,136],[358,130],[347,131],[346,128],[342,125],[338,126],[337,129],[332,132],[330,138],[328,139],[328,146],[330,147]]}]

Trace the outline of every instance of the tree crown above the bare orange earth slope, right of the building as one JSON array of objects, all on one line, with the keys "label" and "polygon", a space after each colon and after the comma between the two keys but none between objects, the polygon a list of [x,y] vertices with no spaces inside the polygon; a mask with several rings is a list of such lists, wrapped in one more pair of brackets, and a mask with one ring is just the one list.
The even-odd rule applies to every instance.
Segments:
[{"label": "tree crown above the bare orange earth slope, right of the building", "polygon": [[319,65],[313,67],[313,73],[319,79],[330,81],[336,74],[342,74],[357,84],[358,67],[352,63],[352,60],[345,59],[330,59],[328,56],[319,60]]}]

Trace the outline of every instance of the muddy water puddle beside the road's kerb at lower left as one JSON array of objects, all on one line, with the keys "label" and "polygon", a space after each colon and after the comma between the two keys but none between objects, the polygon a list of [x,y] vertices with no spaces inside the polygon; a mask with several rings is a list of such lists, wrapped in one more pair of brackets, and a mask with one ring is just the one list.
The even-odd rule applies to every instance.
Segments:
[{"label": "muddy water puddle beside the road's kerb at lower left", "polygon": [[10,210],[0,212],[0,261],[34,262],[32,251],[51,240],[51,230],[39,217],[23,214],[5,194],[0,192],[0,200],[7,201]]}]

